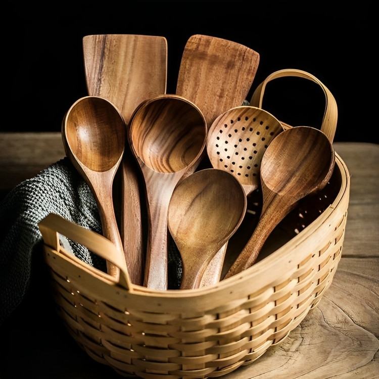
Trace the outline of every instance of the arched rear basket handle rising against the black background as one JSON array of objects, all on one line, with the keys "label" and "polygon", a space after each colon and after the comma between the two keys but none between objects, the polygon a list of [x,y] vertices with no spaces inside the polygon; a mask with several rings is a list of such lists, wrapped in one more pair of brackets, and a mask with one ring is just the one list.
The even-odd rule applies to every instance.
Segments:
[{"label": "arched rear basket handle rising against the black background", "polygon": [[[321,123],[321,131],[326,134],[326,136],[329,138],[330,143],[333,143],[334,135],[336,133],[338,117],[336,99],[334,98],[333,94],[331,94],[331,92],[325,87],[324,84],[322,84],[315,76],[311,75],[306,71],[297,69],[285,69],[273,72],[271,75],[267,76],[267,78],[256,88],[251,98],[250,105],[252,107],[262,108],[263,93],[266,88],[266,84],[272,79],[284,76],[297,76],[300,78],[305,78],[317,83],[322,88],[325,94],[326,104],[324,117]],[[288,125],[285,124],[284,126]]]}]

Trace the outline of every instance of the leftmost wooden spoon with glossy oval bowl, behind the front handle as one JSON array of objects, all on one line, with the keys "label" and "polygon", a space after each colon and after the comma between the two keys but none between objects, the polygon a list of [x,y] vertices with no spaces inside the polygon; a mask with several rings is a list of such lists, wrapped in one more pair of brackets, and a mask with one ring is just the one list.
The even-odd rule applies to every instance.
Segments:
[{"label": "leftmost wooden spoon with glossy oval bowl, behind the front handle", "polygon": [[[67,156],[83,176],[98,204],[103,234],[123,255],[113,209],[112,183],[125,147],[125,123],[119,111],[100,97],[77,100],[62,123]],[[107,262],[108,273],[119,277],[119,269]],[[130,288],[130,287],[129,287]]]}]

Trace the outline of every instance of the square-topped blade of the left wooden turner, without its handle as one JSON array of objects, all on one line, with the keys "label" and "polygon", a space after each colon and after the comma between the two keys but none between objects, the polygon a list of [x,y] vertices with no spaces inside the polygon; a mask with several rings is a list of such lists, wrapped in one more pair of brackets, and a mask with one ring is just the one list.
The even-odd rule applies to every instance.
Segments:
[{"label": "square-topped blade of the left wooden turner, without its handle", "polygon": [[83,54],[88,93],[113,103],[126,123],[142,101],[166,92],[164,37],[87,35],[83,38]]}]

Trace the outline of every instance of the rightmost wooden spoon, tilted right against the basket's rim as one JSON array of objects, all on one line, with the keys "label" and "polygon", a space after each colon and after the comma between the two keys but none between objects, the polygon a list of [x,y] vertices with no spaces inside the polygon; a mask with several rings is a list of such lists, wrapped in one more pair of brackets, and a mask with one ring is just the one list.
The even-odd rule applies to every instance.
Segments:
[{"label": "rightmost wooden spoon, tilted right against the basket's rim", "polygon": [[254,264],[273,228],[300,199],[327,183],[334,164],[333,146],[318,129],[297,126],[272,140],[261,163],[263,206],[258,225],[225,278]]}]

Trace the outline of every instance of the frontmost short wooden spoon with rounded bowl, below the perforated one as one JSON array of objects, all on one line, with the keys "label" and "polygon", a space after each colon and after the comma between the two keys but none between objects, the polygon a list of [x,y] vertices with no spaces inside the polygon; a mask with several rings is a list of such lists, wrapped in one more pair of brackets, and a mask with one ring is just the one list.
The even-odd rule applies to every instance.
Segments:
[{"label": "frontmost short wooden spoon with rounded bowl, below the perforated one", "polygon": [[183,261],[181,290],[199,288],[213,256],[240,226],[246,205],[240,182],[223,170],[195,172],[175,188],[168,227]]}]

